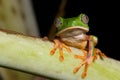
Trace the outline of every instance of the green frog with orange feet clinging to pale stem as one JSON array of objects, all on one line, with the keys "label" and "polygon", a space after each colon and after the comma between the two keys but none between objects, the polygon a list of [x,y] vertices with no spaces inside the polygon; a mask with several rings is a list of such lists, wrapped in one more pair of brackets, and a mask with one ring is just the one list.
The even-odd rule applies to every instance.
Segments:
[{"label": "green frog with orange feet clinging to pale stem", "polygon": [[71,52],[71,50],[68,46],[81,49],[84,56],[74,55],[75,58],[82,59],[82,62],[74,68],[73,73],[77,73],[79,69],[85,65],[81,75],[82,78],[86,77],[89,65],[97,59],[98,55],[101,58],[105,57],[104,53],[94,48],[98,42],[98,38],[94,35],[86,35],[89,31],[88,21],[88,16],[83,13],[73,18],[57,18],[55,21],[55,26],[57,28],[56,37],[54,39],[55,45],[50,52],[50,54],[53,55],[55,51],[59,49],[59,60],[63,61],[63,48],[66,48],[69,52]]}]

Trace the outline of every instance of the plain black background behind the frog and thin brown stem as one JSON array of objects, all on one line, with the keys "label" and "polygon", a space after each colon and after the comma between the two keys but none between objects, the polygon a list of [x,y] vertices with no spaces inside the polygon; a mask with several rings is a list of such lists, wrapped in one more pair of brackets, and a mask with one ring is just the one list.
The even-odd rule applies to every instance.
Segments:
[{"label": "plain black background behind the frog and thin brown stem", "polygon": [[[61,0],[31,0],[41,37],[48,35]],[[97,48],[108,57],[120,60],[119,2],[105,0],[68,0],[64,17],[85,13],[89,17],[88,34],[98,36]]]}]

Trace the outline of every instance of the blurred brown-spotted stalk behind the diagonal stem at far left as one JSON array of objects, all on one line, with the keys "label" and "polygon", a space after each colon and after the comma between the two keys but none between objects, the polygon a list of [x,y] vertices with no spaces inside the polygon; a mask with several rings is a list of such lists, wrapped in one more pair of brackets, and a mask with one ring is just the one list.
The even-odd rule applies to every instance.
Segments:
[{"label": "blurred brown-spotted stalk behind the diagonal stem at far left", "polygon": [[[38,36],[30,0],[0,0],[0,28]],[[33,80],[23,72],[0,68],[4,80]]]}]

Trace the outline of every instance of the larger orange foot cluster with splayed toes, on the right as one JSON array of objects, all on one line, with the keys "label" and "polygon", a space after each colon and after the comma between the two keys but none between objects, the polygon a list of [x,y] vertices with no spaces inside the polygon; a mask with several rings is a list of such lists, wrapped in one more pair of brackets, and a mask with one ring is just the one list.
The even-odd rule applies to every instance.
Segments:
[{"label": "larger orange foot cluster with splayed toes, on the right", "polygon": [[81,56],[81,55],[74,56],[75,58],[82,59],[83,61],[77,67],[74,68],[73,72],[77,73],[79,69],[85,65],[84,71],[82,72],[82,75],[81,75],[82,78],[85,78],[87,75],[87,70],[89,65],[98,58],[98,55],[100,56],[101,59],[105,58],[106,55],[96,48],[94,49],[94,55],[90,55],[89,53],[87,54],[87,52],[84,50],[83,50],[83,53],[84,53],[84,56]]}]

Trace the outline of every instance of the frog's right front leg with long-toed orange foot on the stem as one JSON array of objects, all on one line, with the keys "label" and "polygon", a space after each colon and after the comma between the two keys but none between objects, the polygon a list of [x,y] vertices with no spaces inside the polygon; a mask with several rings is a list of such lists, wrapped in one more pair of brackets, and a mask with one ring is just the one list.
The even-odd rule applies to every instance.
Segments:
[{"label": "frog's right front leg with long-toed orange foot on the stem", "polygon": [[[77,73],[78,70],[85,65],[84,71],[82,72],[82,78],[85,78],[87,75],[87,70],[89,65],[97,59],[97,56],[100,55],[100,57],[105,57],[105,55],[99,50],[94,48],[94,36],[88,36],[88,51],[87,55],[84,56],[82,59],[83,61],[76,67],[74,68],[74,73]],[[80,55],[78,55],[80,56]],[[81,59],[81,58],[80,58]]]}]

